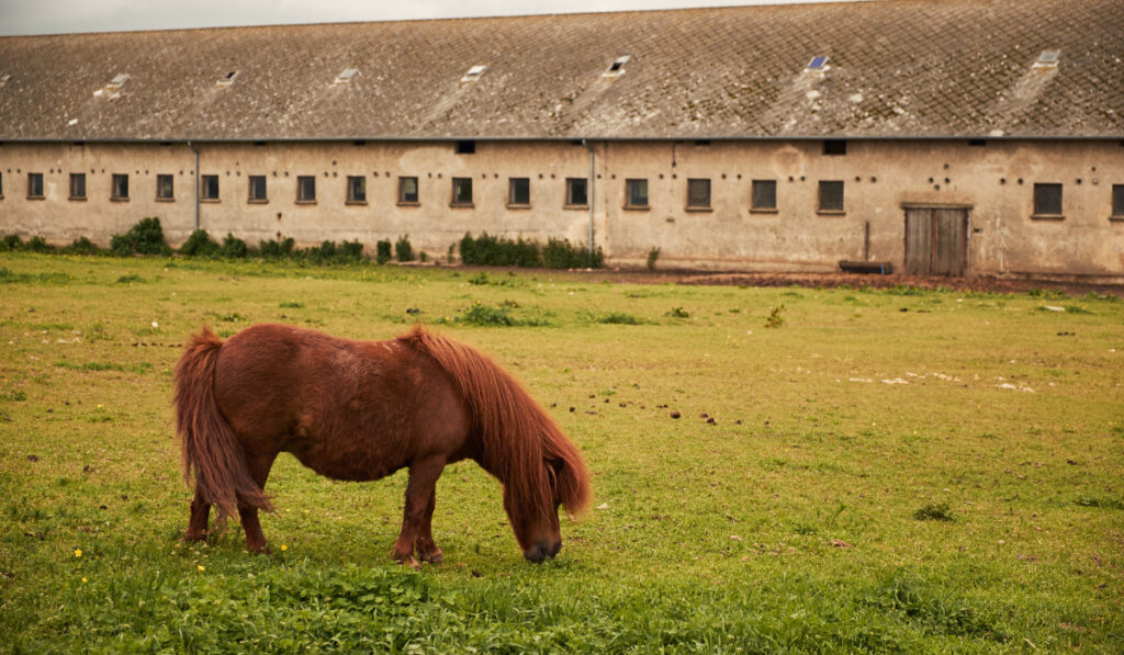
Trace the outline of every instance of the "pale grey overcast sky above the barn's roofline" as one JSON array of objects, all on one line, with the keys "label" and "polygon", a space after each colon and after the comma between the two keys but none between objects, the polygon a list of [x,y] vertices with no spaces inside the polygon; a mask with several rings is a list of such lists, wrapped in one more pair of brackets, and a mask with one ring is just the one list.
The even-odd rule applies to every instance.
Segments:
[{"label": "pale grey overcast sky above the barn's roofline", "polygon": [[0,0],[0,36],[627,11],[810,0]]}]

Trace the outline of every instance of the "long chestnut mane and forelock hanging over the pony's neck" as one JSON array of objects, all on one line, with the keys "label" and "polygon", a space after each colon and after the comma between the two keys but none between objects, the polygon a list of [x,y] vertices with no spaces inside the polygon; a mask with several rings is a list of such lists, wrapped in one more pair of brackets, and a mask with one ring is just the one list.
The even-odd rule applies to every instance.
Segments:
[{"label": "long chestnut mane and forelock hanging over the pony's neck", "polygon": [[448,373],[472,413],[483,445],[482,464],[509,488],[513,500],[554,511],[543,461],[555,470],[555,490],[571,515],[590,501],[589,471],[578,448],[511,375],[468,345],[419,325],[398,337],[433,357]]}]

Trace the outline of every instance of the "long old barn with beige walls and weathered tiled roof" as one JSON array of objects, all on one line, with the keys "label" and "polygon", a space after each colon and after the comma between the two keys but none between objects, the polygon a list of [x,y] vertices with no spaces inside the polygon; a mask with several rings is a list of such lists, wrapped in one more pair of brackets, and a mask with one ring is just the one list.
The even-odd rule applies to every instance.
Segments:
[{"label": "long old barn with beige walls and weathered tiled roof", "polygon": [[1118,0],[0,38],[0,234],[1124,280]]}]

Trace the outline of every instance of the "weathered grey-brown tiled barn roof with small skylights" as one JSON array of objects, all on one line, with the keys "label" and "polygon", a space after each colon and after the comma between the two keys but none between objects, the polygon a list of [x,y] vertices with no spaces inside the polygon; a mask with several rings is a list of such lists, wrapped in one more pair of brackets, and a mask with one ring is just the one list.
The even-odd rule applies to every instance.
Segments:
[{"label": "weathered grey-brown tiled barn roof with small skylights", "polygon": [[1122,57],[1118,0],[6,37],[0,140],[1118,138]]}]

